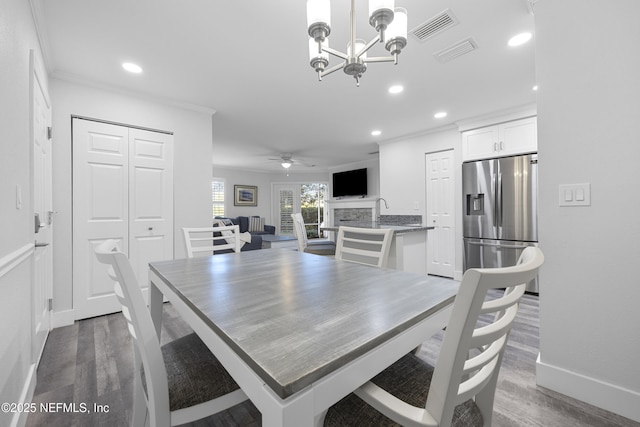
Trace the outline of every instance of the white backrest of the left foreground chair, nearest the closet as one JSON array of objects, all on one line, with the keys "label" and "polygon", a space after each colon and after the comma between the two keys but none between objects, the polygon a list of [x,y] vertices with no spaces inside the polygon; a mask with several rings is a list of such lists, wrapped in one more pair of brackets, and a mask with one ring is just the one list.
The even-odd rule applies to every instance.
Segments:
[{"label": "white backrest of the left foreground chair, nearest the closet", "polygon": [[140,364],[144,367],[149,414],[152,418],[159,413],[169,417],[169,386],[160,341],[131,263],[115,240],[101,243],[95,253],[99,262],[109,265],[107,274],[115,281],[115,294],[134,342],[136,373],[142,372]]}]

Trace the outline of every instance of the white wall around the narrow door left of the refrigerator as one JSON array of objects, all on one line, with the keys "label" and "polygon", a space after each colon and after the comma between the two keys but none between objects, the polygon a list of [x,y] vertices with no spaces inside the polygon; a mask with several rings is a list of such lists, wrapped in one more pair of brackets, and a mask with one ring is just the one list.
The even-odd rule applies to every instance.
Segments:
[{"label": "white wall around the narrow door left of the refrigerator", "polygon": [[[454,150],[455,209],[462,212],[462,137],[457,127],[449,127],[404,140],[380,144],[380,196],[389,209],[383,215],[422,215],[426,220],[425,156],[443,150]],[[419,209],[415,209],[415,206]],[[462,272],[462,218],[456,220],[454,270]]]}]

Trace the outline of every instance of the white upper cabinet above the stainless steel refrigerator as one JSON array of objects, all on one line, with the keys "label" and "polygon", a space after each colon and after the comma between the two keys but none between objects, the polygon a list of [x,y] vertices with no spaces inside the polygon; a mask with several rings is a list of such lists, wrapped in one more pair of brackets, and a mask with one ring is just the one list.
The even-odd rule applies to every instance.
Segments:
[{"label": "white upper cabinet above the stainless steel refrigerator", "polygon": [[462,160],[538,151],[538,126],[535,117],[462,132]]}]

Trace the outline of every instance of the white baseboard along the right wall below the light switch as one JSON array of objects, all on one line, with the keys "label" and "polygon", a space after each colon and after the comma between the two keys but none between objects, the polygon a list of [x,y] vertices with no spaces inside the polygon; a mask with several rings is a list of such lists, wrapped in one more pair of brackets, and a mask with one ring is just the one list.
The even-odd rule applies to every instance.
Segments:
[{"label": "white baseboard along the right wall below the light switch", "polygon": [[536,382],[590,405],[640,422],[640,393],[536,360]]}]

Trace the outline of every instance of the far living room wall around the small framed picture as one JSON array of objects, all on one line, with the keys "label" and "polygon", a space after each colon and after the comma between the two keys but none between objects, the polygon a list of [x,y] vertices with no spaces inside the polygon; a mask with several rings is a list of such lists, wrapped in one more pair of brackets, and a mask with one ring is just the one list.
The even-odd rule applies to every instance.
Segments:
[{"label": "far living room wall around the small framed picture", "polygon": [[[215,152],[214,152],[215,157]],[[215,159],[214,159],[215,161]],[[294,166],[295,167],[295,166]],[[265,218],[265,223],[275,225],[272,218],[272,184],[302,183],[302,182],[329,182],[328,172],[286,172],[267,173],[256,172],[244,169],[222,168],[213,166],[213,176],[224,178],[225,180],[225,216],[261,216]],[[255,185],[258,187],[258,206],[234,206],[233,186],[234,185]]]}]

